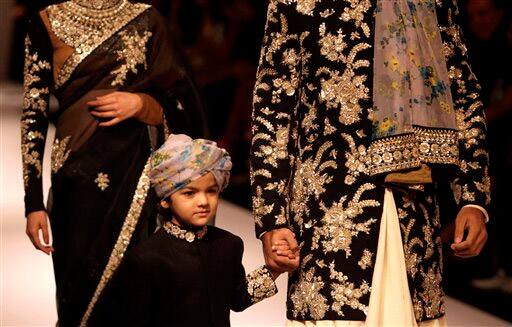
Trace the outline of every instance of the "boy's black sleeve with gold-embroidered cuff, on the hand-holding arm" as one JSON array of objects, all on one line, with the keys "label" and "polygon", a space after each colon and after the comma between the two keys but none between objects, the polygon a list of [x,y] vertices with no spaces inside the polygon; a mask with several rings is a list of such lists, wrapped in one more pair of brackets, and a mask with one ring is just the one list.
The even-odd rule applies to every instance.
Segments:
[{"label": "boy's black sleeve with gold-embroidered cuff, on the hand-holding arm", "polygon": [[245,269],[242,265],[243,252],[243,242],[238,239],[237,268],[231,296],[231,310],[236,312],[243,311],[277,293],[277,286],[272,278],[272,273],[266,266],[252,271],[247,276],[245,275]]}]

